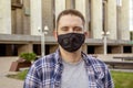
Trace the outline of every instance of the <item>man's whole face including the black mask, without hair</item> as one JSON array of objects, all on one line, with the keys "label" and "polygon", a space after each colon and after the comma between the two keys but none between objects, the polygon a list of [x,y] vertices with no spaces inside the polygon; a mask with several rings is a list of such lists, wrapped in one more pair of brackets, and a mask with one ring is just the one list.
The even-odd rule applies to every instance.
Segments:
[{"label": "man's whole face including the black mask, without hair", "polygon": [[78,51],[84,43],[82,19],[71,14],[62,15],[54,35],[60,48],[71,53]]}]

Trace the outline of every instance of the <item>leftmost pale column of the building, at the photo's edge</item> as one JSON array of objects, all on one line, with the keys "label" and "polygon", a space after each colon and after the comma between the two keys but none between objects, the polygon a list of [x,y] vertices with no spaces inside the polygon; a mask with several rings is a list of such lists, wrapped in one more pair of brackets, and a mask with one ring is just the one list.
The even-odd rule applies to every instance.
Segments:
[{"label": "leftmost pale column of the building, at the photo's edge", "polygon": [[0,33],[11,34],[11,0],[0,0]]}]

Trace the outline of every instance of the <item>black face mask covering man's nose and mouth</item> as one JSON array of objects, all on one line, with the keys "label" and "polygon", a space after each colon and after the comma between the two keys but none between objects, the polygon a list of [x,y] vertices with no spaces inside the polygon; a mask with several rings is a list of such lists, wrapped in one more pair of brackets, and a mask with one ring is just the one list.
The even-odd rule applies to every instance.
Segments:
[{"label": "black face mask covering man's nose and mouth", "polygon": [[82,33],[68,33],[58,35],[58,42],[68,52],[78,51],[84,43],[85,35]]}]

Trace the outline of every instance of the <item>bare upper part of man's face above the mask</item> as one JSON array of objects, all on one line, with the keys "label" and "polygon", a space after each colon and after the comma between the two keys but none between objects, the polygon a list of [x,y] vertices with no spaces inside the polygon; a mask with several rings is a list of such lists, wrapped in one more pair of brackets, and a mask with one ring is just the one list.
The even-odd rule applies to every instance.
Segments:
[{"label": "bare upper part of man's face above the mask", "polygon": [[59,21],[57,29],[58,35],[66,33],[83,33],[83,22],[81,18],[75,15],[63,15]]}]

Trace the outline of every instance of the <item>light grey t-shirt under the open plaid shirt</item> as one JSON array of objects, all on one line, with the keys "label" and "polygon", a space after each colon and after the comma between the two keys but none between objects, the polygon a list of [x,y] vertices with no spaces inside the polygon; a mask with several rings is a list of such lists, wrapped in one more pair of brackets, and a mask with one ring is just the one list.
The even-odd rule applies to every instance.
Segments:
[{"label": "light grey t-shirt under the open plaid shirt", "polygon": [[84,66],[83,59],[76,64],[63,61],[61,88],[89,88],[89,78]]}]

